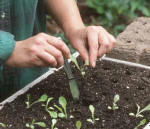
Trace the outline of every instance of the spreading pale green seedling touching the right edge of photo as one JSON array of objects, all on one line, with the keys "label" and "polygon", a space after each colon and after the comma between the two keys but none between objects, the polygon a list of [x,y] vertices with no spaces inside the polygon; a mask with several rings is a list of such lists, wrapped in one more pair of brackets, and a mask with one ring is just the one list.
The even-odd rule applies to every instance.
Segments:
[{"label": "spreading pale green seedling touching the right edge of photo", "polygon": [[148,104],[145,108],[143,108],[142,110],[140,110],[140,106],[138,104],[136,104],[137,106],[137,113],[129,113],[130,116],[134,116],[134,117],[144,117],[141,113],[145,112],[145,111],[150,111],[150,104]]}]

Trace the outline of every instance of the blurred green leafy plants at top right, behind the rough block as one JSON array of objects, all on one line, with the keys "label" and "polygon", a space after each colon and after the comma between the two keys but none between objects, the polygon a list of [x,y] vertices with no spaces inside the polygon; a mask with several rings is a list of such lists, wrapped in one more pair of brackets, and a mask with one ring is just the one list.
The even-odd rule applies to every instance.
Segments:
[{"label": "blurred green leafy plants at top right, behind the rough block", "polygon": [[99,14],[96,20],[107,29],[113,28],[115,35],[137,16],[150,16],[148,0],[86,0],[86,4]]}]

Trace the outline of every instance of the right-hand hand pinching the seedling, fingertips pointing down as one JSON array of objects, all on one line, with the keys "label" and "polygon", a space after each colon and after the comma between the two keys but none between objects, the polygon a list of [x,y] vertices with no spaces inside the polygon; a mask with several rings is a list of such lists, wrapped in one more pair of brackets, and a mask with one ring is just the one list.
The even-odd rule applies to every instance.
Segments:
[{"label": "right-hand hand pinching the seedling, fingertips pointing down", "polygon": [[83,27],[70,30],[66,34],[71,45],[80,53],[84,61],[89,61],[95,67],[97,57],[112,50],[116,40],[101,26]]}]

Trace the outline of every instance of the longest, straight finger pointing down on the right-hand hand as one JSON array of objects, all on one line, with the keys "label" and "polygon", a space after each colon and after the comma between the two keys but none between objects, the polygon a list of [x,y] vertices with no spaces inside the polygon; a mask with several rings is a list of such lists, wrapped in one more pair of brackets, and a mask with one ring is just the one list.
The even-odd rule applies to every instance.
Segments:
[{"label": "longest, straight finger pointing down on the right-hand hand", "polygon": [[88,33],[90,65],[95,67],[98,55],[98,33],[91,31]]}]

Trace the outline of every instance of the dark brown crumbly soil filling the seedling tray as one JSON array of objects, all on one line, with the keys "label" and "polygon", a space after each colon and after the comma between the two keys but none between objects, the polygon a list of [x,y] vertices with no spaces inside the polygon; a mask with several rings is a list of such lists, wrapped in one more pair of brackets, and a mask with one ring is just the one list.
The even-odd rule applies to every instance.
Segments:
[{"label": "dark brown crumbly soil filling the seedling tray", "polygon": [[[73,119],[59,119],[56,124],[58,129],[76,129],[76,120],[82,121],[82,129],[133,129],[138,125],[142,118],[133,118],[128,114],[136,113],[136,104],[144,108],[150,103],[150,71],[99,61],[96,68],[86,69],[86,76],[83,78],[74,65],[71,67],[80,89],[78,103],[72,100],[66,74],[61,69],[12,103],[6,104],[0,111],[0,122],[6,123],[7,129],[26,129],[25,124],[34,118],[45,122],[50,128],[51,118],[41,103],[30,109],[25,104],[27,94],[31,94],[33,102],[46,93],[49,97],[54,97],[51,105],[58,104],[58,98],[64,96],[67,99],[67,113],[74,116]],[[116,94],[120,95],[117,103],[119,109],[108,110],[107,107],[112,105]],[[95,125],[86,121],[91,115],[88,108],[90,104],[95,107],[95,117],[100,119]],[[143,115],[150,121],[149,111]]]}]

